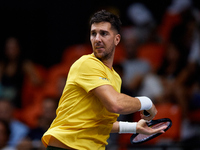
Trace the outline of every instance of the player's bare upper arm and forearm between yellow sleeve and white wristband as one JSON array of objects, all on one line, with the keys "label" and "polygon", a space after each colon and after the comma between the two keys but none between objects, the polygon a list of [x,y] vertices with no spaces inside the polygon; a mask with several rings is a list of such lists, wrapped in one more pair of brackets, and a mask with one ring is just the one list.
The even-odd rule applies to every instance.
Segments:
[{"label": "player's bare upper arm and forearm between yellow sleeve and white wristband", "polygon": [[137,98],[118,93],[111,85],[102,85],[92,90],[106,109],[113,113],[130,114],[141,108]]}]

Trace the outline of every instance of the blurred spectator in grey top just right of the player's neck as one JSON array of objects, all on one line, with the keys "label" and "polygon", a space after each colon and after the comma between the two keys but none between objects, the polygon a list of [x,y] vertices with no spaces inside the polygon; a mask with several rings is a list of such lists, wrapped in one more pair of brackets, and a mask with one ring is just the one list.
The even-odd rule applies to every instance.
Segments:
[{"label": "blurred spectator in grey top just right of the player's neck", "polygon": [[145,74],[151,71],[151,66],[148,61],[137,57],[138,38],[134,33],[132,27],[122,30],[122,42],[127,57],[121,64],[124,70],[122,77],[124,86],[136,96]]}]

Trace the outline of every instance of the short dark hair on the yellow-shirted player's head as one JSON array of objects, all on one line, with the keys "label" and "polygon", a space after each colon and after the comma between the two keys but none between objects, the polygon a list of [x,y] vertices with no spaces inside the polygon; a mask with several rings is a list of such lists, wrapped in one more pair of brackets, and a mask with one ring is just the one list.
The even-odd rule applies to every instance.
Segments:
[{"label": "short dark hair on the yellow-shirted player's head", "polygon": [[96,12],[92,18],[90,19],[90,26],[93,23],[100,23],[100,22],[109,22],[111,24],[111,27],[114,28],[118,33],[120,33],[121,29],[121,20],[119,19],[119,16],[110,13],[106,10],[101,10]]}]

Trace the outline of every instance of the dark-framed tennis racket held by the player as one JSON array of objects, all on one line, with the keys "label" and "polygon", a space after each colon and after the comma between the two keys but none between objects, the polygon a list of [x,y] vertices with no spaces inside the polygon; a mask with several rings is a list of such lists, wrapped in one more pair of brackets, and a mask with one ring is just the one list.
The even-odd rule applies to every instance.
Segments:
[{"label": "dark-framed tennis racket held by the player", "polygon": [[[149,115],[147,111],[144,111],[144,115],[147,116]],[[157,119],[157,120],[151,120],[149,122],[147,122],[147,126],[151,127],[153,129],[156,128],[160,128],[162,126],[167,126],[166,129],[164,129],[164,131],[166,132],[171,126],[172,126],[172,121],[169,118],[162,118],[162,119]],[[162,133],[155,133],[155,134],[151,134],[151,135],[145,135],[145,134],[133,134],[130,138],[130,142],[131,144],[140,144],[140,143],[144,143],[146,141],[149,141],[159,135],[161,135]]]}]

